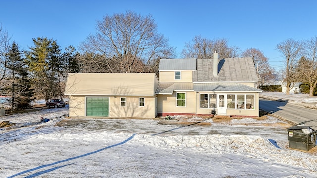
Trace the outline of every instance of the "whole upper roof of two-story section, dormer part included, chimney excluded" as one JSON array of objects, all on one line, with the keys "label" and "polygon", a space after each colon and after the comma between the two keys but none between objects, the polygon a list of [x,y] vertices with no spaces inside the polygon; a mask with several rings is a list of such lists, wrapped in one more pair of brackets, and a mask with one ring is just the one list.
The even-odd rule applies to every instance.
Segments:
[{"label": "whole upper roof of two-story section, dormer part included, chimney excluded", "polygon": [[251,57],[225,58],[218,61],[213,75],[213,59],[161,59],[159,71],[192,70],[193,82],[258,82]]}]

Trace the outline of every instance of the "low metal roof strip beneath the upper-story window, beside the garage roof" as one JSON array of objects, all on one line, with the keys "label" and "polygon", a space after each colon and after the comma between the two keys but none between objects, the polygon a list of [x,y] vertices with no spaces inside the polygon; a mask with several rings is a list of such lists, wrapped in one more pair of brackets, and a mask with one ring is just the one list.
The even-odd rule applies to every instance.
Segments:
[{"label": "low metal roof strip beneath the upper-story window, beside the garage roof", "polygon": [[156,94],[173,94],[175,90],[193,91],[192,82],[177,82],[177,83],[159,83]]}]

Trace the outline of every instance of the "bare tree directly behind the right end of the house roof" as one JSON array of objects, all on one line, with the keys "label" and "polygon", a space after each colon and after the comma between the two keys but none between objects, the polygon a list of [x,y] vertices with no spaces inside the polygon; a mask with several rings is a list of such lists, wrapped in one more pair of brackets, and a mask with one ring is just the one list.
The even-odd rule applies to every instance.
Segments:
[{"label": "bare tree directly behind the right end of the house roof", "polygon": [[259,85],[267,85],[270,81],[275,79],[274,69],[268,63],[268,58],[264,56],[259,49],[250,48],[242,52],[242,57],[252,57],[253,64],[256,67],[256,72],[259,79]]}]

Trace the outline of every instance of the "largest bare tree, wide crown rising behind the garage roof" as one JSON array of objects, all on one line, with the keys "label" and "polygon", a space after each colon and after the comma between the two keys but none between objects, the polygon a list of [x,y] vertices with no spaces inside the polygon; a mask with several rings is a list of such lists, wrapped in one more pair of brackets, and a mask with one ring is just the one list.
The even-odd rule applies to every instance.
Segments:
[{"label": "largest bare tree, wide crown rising behind the garage roof", "polygon": [[145,72],[152,60],[174,55],[168,39],[157,32],[152,16],[142,17],[133,11],[106,15],[97,21],[96,33],[89,35],[80,48],[104,56],[96,61],[87,58],[106,66],[104,72]]}]

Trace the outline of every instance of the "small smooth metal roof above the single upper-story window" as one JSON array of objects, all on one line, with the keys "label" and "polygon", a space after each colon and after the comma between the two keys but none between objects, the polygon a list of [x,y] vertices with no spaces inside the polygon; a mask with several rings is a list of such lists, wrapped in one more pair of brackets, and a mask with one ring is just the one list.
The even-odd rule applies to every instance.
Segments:
[{"label": "small smooth metal roof above the single upper-story window", "polygon": [[196,59],[160,59],[159,71],[196,70]]}]

